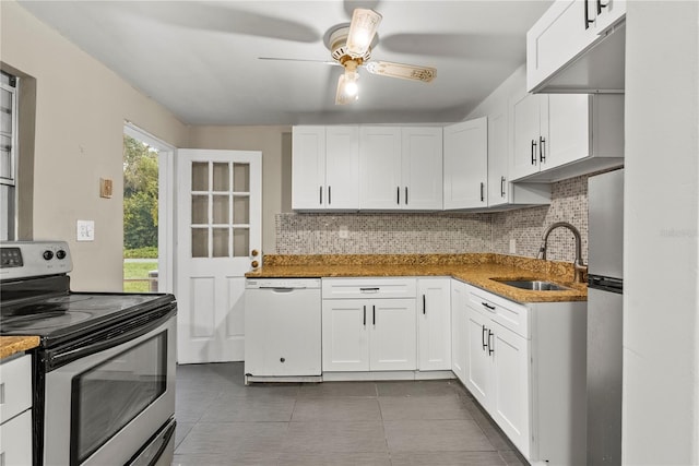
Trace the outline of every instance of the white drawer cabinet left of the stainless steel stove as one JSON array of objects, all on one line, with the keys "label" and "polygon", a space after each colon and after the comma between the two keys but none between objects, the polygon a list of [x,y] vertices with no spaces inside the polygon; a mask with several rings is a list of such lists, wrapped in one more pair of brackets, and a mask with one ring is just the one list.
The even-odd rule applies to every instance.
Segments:
[{"label": "white drawer cabinet left of the stainless steel stove", "polygon": [[0,464],[32,464],[32,356],[0,363]]}]

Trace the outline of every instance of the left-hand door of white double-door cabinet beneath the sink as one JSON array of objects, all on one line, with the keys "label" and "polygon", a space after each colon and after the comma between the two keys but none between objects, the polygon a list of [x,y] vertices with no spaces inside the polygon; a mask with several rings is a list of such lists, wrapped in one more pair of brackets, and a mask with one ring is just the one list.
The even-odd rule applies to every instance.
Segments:
[{"label": "left-hand door of white double-door cabinet beneath the sink", "polygon": [[493,396],[493,361],[488,355],[488,338],[491,338],[488,332],[491,332],[493,324],[489,319],[473,308],[469,308],[467,319],[466,389],[489,411]]}]

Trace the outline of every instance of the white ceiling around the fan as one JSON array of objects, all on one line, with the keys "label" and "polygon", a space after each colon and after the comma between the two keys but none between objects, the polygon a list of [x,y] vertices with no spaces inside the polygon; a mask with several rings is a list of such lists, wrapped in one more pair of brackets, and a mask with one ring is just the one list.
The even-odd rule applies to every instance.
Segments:
[{"label": "white ceiling around the fan", "polygon": [[[462,120],[525,57],[534,1],[21,1],[189,124]],[[433,83],[360,71],[359,100],[335,106],[329,28],[355,7],[383,15],[374,60],[437,68]]]}]

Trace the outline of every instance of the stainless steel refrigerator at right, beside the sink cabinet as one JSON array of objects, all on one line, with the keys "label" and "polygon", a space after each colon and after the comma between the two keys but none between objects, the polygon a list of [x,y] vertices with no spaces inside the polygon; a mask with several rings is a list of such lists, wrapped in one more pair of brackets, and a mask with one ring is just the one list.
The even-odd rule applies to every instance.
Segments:
[{"label": "stainless steel refrigerator at right, beside the sink cabinet", "polygon": [[588,464],[621,464],[624,170],[588,180]]}]

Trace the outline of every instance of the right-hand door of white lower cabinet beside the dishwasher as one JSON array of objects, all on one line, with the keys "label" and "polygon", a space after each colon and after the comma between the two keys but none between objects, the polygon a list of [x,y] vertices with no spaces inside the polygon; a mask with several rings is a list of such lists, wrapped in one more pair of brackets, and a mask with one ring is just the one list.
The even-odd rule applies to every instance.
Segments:
[{"label": "right-hand door of white lower cabinet beside the dishwasher", "polygon": [[366,301],[369,336],[369,369],[394,371],[417,369],[417,332],[414,299]]}]

